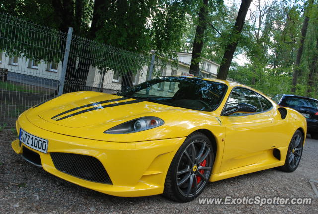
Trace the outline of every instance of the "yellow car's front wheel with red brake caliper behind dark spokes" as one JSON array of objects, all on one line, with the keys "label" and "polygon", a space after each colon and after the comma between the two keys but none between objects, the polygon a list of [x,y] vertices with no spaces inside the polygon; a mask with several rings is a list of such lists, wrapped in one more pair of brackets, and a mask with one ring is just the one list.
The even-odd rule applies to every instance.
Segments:
[{"label": "yellow car's front wheel with red brake caliper behind dark spokes", "polygon": [[200,132],[190,134],[170,164],[163,196],[176,202],[194,200],[208,184],[213,163],[209,138]]}]

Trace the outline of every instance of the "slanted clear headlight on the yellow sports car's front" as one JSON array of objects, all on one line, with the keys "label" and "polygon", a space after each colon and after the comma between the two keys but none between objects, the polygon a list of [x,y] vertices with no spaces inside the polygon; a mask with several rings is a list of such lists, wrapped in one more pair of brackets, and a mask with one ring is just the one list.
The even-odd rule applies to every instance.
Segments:
[{"label": "slanted clear headlight on the yellow sports car's front", "polygon": [[128,134],[156,128],[163,125],[164,121],[154,116],[146,116],[117,125],[104,131],[105,134]]}]

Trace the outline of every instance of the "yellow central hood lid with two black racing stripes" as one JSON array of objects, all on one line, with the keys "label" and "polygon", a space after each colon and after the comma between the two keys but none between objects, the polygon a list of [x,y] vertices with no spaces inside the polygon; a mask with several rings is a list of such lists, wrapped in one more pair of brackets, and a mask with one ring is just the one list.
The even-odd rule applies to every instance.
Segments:
[{"label": "yellow central hood lid with two black racing stripes", "polygon": [[[85,99],[65,101],[62,105],[50,105],[37,115],[41,119],[60,126],[80,128],[114,121],[126,121],[126,118],[135,117],[144,113],[177,109],[144,100],[121,97],[110,94],[98,94]],[[34,114],[27,114],[34,122]]]}]

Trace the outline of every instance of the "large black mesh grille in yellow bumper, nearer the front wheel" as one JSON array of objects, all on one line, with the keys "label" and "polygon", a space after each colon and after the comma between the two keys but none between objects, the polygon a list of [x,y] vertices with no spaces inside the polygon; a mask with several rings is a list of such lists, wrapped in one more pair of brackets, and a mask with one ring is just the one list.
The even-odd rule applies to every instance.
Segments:
[{"label": "large black mesh grille in yellow bumper, nearer the front wheel", "polygon": [[89,181],[112,184],[102,163],[92,156],[52,152],[55,168],[61,172]]}]

